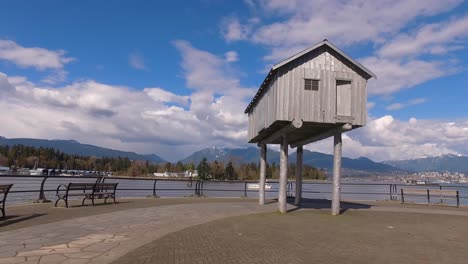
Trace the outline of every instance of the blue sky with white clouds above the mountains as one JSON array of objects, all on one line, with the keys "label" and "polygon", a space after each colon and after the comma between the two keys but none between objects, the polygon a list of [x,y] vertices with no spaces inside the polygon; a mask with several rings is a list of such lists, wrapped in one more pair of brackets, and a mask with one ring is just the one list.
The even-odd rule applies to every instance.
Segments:
[{"label": "blue sky with white clouds above the mountains", "polygon": [[468,155],[468,3],[459,0],[8,1],[0,135],[169,160],[245,147],[243,110],[269,67],[324,38],[378,76],[368,126],[345,136],[347,156]]}]

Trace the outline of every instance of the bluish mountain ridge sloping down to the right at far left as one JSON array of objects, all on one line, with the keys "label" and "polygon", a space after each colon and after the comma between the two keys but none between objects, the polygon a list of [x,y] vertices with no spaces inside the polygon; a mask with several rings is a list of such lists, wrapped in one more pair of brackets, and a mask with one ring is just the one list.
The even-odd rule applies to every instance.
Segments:
[{"label": "bluish mountain ridge sloping down to the right at far left", "polygon": [[34,138],[5,138],[0,137],[0,145],[25,145],[31,147],[54,148],[67,154],[95,157],[128,157],[131,160],[148,160],[154,163],[166,162],[156,154],[137,154],[135,152],[120,151],[98,146],[81,144],[75,140],[48,140]]}]

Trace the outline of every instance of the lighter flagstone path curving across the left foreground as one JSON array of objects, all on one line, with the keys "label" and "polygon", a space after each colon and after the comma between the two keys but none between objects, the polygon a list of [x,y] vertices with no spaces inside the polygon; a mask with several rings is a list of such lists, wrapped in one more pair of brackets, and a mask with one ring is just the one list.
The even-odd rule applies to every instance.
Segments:
[{"label": "lighter flagstone path curving across the left foreground", "polygon": [[0,232],[0,264],[109,263],[190,226],[275,210],[276,204],[260,207],[256,202],[177,204],[28,226]]}]

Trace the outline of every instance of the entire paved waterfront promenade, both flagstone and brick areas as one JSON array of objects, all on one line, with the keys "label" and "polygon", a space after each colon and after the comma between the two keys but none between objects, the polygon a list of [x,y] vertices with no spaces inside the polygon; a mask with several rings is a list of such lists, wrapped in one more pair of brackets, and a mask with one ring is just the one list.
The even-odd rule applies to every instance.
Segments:
[{"label": "entire paved waterfront promenade, both flagstone and brick areas", "polygon": [[468,208],[254,199],[121,199],[11,206],[0,263],[466,263]]}]

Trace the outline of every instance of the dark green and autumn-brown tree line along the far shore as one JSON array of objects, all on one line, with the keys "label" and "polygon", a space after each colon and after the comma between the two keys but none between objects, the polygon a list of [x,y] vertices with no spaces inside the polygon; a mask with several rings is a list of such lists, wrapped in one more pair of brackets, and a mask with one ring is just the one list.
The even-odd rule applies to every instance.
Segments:
[{"label": "dark green and autumn-brown tree line along the far shore", "polygon": [[[255,180],[260,175],[259,163],[224,164],[221,161],[209,162],[203,158],[198,164],[194,163],[161,163],[130,160],[127,157],[94,157],[66,154],[53,148],[30,147],[24,145],[0,146],[0,166],[10,168],[33,168],[35,163],[39,168],[60,170],[108,171],[122,176],[148,176],[155,172],[198,172],[201,179],[216,180]],[[288,177],[295,177],[295,164],[290,164]],[[303,165],[302,174],[305,179],[326,179],[326,174],[309,165]],[[266,177],[279,178],[279,165],[267,164]]]}]

